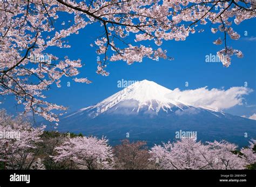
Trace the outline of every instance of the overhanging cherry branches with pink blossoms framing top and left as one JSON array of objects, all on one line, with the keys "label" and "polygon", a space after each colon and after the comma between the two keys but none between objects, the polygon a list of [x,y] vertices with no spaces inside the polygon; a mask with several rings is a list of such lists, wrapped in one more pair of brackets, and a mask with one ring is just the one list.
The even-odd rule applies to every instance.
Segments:
[{"label": "overhanging cherry branches with pink blossoms framing top and left", "polygon": [[213,43],[224,45],[218,55],[228,67],[232,55],[242,57],[241,51],[227,45],[228,36],[240,38],[232,25],[255,17],[255,1],[1,1],[0,13],[0,94],[14,94],[25,112],[58,121],[55,110],[66,107],[47,102],[43,92],[52,84],[60,87],[63,76],[90,83],[87,78],[77,77],[83,64],[79,59],[53,54],[56,47],[70,47],[67,37],[71,34],[78,34],[90,24],[102,28],[104,33],[91,46],[103,55],[103,60],[97,62],[97,73],[107,76],[108,61],[132,64],[145,57],[172,59],[160,47],[163,41],[185,40],[190,34],[202,32],[209,23],[212,33],[219,34]]}]

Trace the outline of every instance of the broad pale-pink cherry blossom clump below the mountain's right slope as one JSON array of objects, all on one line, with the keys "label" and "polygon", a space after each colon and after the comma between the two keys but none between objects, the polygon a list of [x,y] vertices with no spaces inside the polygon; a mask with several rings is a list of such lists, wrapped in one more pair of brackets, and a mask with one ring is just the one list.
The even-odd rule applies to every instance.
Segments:
[{"label": "broad pale-pink cherry blossom clump below the mountain's right slope", "polygon": [[226,141],[197,142],[195,138],[182,138],[151,148],[151,160],[160,169],[245,169],[246,162],[233,143]]}]

